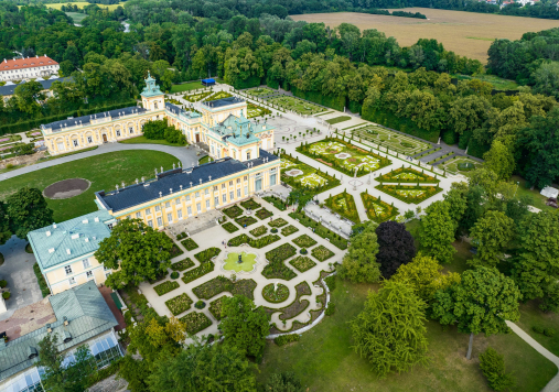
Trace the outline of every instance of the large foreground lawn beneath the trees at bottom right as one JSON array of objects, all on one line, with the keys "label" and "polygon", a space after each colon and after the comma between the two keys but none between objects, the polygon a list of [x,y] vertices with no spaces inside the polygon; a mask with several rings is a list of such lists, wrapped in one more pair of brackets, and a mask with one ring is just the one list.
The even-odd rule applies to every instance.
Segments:
[{"label": "large foreground lawn beneath the trees at bottom right", "polygon": [[257,379],[293,371],[309,392],[338,391],[491,391],[479,368],[479,355],[487,347],[505,355],[505,364],[518,380],[514,391],[536,392],[556,374],[557,368],[516,335],[474,339],[473,359],[465,359],[469,336],[455,328],[443,331],[436,322],[427,323],[430,363],[411,372],[389,374],[379,380],[370,364],[351,348],[347,322],[362,309],[368,290],[376,285],[351,284],[337,279],[332,301],[336,313],[302,334],[299,342],[278,347],[268,342]]}]

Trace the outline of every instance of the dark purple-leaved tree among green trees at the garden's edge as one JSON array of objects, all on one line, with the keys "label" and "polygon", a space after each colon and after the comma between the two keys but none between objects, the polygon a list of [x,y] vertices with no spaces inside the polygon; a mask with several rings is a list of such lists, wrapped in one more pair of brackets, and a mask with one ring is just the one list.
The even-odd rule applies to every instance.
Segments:
[{"label": "dark purple-leaved tree among green trees at the garden's edge", "polygon": [[375,230],[378,242],[377,263],[384,279],[390,276],[402,264],[407,264],[416,255],[413,237],[406,230],[406,225],[388,220],[378,225]]}]

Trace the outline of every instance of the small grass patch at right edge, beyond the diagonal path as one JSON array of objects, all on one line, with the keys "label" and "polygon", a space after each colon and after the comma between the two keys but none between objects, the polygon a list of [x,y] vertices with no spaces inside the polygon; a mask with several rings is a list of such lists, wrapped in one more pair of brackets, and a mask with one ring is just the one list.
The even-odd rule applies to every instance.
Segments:
[{"label": "small grass patch at right edge, beyond the diagonal path", "polygon": [[[541,346],[556,356],[559,356],[559,314],[553,312],[541,312],[538,306],[539,302],[537,301],[528,301],[526,304],[520,304],[520,319],[516,324]],[[553,328],[556,335],[553,337],[548,337],[542,334],[537,334],[531,329],[534,326]]]}]

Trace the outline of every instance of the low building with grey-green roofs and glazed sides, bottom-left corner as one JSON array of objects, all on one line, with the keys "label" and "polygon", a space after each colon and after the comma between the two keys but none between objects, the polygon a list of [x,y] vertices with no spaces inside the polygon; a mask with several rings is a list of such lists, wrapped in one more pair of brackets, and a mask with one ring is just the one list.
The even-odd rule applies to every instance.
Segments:
[{"label": "low building with grey-green roofs and glazed sides, bottom-left corner", "polygon": [[[35,363],[41,355],[39,342],[47,335],[58,337],[58,351],[64,352],[64,364],[74,360],[74,351],[82,345],[89,346],[98,368],[108,366],[122,356],[115,336],[118,322],[105,302],[95,282],[65,291],[37,303],[52,309],[46,313],[41,327],[36,320],[22,319],[21,330],[26,334],[4,342],[0,340],[0,391],[42,391],[43,369]],[[4,323],[4,322],[2,322]]]}]

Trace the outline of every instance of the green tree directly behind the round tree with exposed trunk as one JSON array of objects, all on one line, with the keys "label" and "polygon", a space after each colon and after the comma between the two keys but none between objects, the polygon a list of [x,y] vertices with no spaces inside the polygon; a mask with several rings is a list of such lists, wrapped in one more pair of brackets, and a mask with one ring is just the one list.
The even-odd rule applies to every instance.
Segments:
[{"label": "green tree directly behind the round tree with exposed trunk", "polygon": [[515,233],[514,220],[502,211],[487,211],[477,220],[470,236],[477,242],[474,265],[495,266],[503,255],[503,249]]}]

